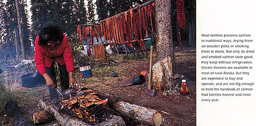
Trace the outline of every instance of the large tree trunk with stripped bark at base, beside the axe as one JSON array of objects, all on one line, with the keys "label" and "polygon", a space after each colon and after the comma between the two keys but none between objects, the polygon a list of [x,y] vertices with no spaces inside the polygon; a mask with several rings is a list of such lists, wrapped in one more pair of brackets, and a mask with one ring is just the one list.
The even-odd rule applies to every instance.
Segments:
[{"label": "large tree trunk with stripped bark at base, beside the axe", "polygon": [[172,42],[171,0],[155,0],[157,62],[152,67],[152,83],[157,92],[178,91]]}]

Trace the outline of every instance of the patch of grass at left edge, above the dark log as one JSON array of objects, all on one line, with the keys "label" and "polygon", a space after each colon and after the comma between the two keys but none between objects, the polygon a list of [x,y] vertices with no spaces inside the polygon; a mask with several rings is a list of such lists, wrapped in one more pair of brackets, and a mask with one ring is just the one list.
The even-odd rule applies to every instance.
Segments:
[{"label": "patch of grass at left edge, above the dark log", "polygon": [[[17,102],[20,109],[26,110],[27,104],[35,104],[38,101],[39,96],[44,93],[42,90],[46,88],[34,87],[24,88],[21,87],[20,80],[17,79],[17,75],[11,75],[11,73],[0,74],[0,114],[5,115],[4,105],[10,99]],[[7,116],[0,117],[1,126],[10,126],[10,120]]]}]

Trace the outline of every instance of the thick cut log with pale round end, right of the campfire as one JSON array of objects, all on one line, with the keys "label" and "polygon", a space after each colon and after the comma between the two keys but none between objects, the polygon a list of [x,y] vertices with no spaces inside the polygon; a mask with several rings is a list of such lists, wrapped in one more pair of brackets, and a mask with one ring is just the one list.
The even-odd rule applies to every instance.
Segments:
[{"label": "thick cut log with pale round end, right of the campfire", "polygon": [[143,106],[129,104],[124,101],[117,101],[113,103],[113,108],[123,115],[134,118],[139,122],[150,126],[160,126],[163,120],[162,115],[154,109],[148,109]]}]

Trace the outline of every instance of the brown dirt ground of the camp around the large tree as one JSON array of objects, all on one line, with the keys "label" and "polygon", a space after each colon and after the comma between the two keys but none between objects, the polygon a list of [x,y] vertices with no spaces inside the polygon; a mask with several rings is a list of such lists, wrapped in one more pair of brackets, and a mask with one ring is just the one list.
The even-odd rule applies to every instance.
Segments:
[{"label": "brown dirt ground of the camp around the large tree", "polygon": [[[153,64],[155,60],[155,51],[153,52]],[[123,54],[125,55],[125,54]],[[141,55],[141,53],[140,53]],[[139,60],[125,60],[111,56],[116,62],[119,62],[118,66],[114,69],[105,71],[105,76],[96,77],[93,76],[93,83],[82,84],[81,78],[77,78],[81,87],[90,87],[94,90],[98,90],[103,93],[114,95],[122,98],[122,101],[144,106],[150,109],[159,111],[164,121],[161,126],[196,126],[196,51],[195,47],[180,48],[175,50],[175,62],[177,73],[184,76],[183,79],[187,81],[187,87],[189,89],[189,95],[164,95],[163,93],[157,93],[155,96],[146,95],[144,93],[144,85],[135,86],[120,86],[123,84],[130,84],[134,76],[138,75],[142,70],[149,70],[149,56],[148,58]],[[111,73],[116,72],[117,77],[112,77]],[[34,90],[45,91],[47,94],[47,88],[45,86],[35,87]],[[37,96],[39,97],[39,96]],[[22,113],[26,115],[27,119],[31,120],[34,112],[42,110],[38,105],[38,102],[28,103],[21,108]],[[0,113],[1,116],[4,115]],[[8,119],[8,117],[3,117]],[[127,126],[137,126],[140,123],[129,122],[128,119],[124,119]],[[53,120],[49,123],[37,124],[37,126],[52,126],[57,123]],[[12,124],[9,123],[8,126]],[[7,126],[7,125],[5,125]]]}]

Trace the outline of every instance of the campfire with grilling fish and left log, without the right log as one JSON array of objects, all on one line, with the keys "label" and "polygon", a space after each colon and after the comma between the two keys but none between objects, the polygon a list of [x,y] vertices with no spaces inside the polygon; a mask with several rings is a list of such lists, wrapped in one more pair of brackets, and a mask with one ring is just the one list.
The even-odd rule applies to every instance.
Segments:
[{"label": "campfire with grilling fish and left log, without the right log", "polygon": [[[62,125],[104,126],[103,122],[123,122],[122,118],[111,115],[104,110],[105,105],[119,101],[121,98],[106,96],[89,88],[69,88],[54,99],[45,96],[41,98],[44,108],[51,109]],[[61,117],[62,116],[62,117]],[[108,125],[106,125],[108,126]],[[120,125],[122,126],[122,125]]]}]

